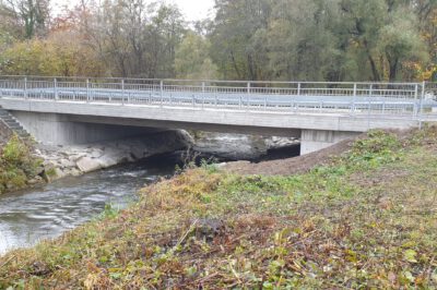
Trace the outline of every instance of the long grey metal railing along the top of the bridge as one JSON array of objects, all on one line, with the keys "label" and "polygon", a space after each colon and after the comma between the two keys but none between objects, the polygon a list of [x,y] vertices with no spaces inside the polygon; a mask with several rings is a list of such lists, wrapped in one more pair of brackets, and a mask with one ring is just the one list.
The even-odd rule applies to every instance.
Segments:
[{"label": "long grey metal railing along the top of the bridge", "polygon": [[391,114],[434,111],[437,84],[239,82],[151,78],[0,76],[0,96],[227,110]]}]

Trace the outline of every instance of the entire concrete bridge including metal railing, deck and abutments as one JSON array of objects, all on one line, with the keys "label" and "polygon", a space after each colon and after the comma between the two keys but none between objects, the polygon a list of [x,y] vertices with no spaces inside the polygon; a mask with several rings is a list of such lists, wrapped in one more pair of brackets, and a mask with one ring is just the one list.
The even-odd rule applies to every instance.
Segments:
[{"label": "entire concrete bridge including metal railing, deck and abutments", "polygon": [[430,83],[0,76],[0,106],[51,145],[186,129],[294,136],[307,154],[370,129],[437,120],[436,88]]}]

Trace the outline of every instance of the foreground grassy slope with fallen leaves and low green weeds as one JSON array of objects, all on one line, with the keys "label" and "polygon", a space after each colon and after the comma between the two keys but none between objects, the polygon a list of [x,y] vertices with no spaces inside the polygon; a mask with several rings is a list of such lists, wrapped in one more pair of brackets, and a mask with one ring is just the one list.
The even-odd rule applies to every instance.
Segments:
[{"label": "foreground grassy slope with fallen leaves and low green weeds", "polygon": [[304,174],[189,170],[0,257],[0,289],[434,289],[436,143],[375,131]]}]

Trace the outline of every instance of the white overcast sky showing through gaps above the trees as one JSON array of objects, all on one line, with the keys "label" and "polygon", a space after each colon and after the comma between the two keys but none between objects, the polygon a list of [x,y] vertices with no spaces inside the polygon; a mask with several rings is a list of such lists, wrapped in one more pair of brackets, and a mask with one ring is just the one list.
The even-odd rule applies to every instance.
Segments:
[{"label": "white overcast sky showing through gaps above the trees", "polygon": [[[213,8],[214,0],[163,0],[166,3],[175,3],[182,11],[187,21],[203,20],[208,16],[214,16]],[[74,7],[78,0],[51,0],[55,14],[60,11],[62,7]]]}]

